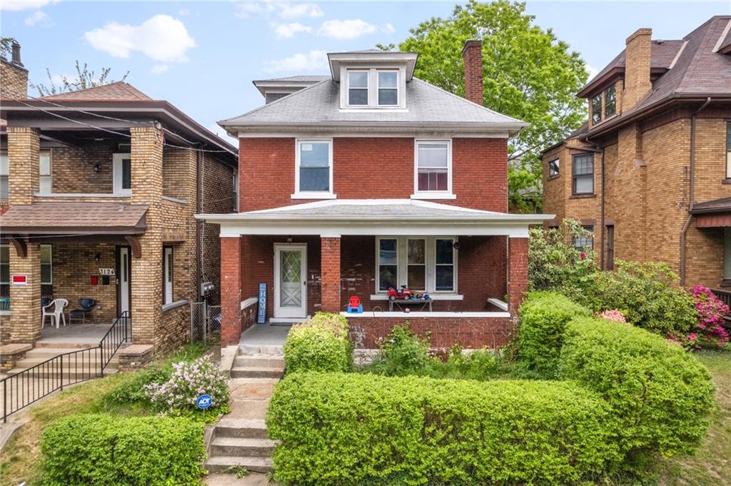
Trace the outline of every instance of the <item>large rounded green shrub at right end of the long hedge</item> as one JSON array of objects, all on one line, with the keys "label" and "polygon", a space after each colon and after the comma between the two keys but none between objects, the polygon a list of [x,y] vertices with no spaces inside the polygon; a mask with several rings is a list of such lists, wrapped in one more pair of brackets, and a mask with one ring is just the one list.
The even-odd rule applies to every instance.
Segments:
[{"label": "large rounded green shrub at right end of the long hedge", "polygon": [[708,429],[713,384],[692,354],[631,324],[580,318],[567,325],[561,377],[602,395],[621,452],[642,468],[656,453],[693,452]]}]

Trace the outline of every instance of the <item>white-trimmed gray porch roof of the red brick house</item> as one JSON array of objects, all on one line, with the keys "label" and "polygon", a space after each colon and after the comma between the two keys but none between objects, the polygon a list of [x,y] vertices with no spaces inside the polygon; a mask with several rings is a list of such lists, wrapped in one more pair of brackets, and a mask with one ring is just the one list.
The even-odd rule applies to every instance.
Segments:
[{"label": "white-trimmed gray porch roof of the red brick house", "polygon": [[420,200],[326,200],[246,213],[199,214],[238,235],[508,235],[526,237],[550,214],[510,214]]}]

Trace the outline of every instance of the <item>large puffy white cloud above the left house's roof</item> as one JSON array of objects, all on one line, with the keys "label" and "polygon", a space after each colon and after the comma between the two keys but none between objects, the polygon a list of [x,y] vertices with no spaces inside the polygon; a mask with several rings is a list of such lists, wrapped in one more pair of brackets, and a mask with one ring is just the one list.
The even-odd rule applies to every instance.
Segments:
[{"label": "large puffy white cloud above the left house's roof", "polygon": [[139,50],[162,62],[187,61],[186,51],[195,47],[185,24],[170,15],[154,15],[139,26],[110,22],[84,37],[93,48],[115,57],[129,58],[133,50]]}]

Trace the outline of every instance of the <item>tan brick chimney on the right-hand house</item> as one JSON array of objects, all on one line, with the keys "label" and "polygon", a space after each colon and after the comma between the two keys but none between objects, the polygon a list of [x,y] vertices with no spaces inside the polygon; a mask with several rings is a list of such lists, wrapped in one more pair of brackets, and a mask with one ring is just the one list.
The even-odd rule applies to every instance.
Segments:
[{"label": "tan brick chimney on the right-hand house", "polygon": [[650,58],[652,29],[637,29],[627,37],[624,50],[622,111],[632,110],[652,89]]}]

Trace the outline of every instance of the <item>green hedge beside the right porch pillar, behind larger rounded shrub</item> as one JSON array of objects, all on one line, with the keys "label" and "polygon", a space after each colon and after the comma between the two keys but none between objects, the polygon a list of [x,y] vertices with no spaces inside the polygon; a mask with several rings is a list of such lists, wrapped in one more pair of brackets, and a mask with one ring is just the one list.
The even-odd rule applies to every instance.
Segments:
[{"label": "green hedge beside the right porch pillar, behind larger rounded shrub", "polygon": [[544,376],[555,376],[558,371],[566,324],[576,316],[591,316],[587,308],[553,292],[531,292],[518,314],[520,360]]}]

